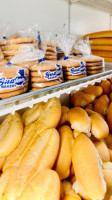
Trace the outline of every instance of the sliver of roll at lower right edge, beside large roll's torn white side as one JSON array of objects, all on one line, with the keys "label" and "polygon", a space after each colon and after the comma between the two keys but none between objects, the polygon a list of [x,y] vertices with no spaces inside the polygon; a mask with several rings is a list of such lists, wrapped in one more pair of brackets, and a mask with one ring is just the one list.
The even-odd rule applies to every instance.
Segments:
[{"label": "sliver of roll at lower right edge, beside large roll's torn white side", "polygon": [[103,174],[107,187],[112,187],[112,163],[107,162],[103,164]]}]

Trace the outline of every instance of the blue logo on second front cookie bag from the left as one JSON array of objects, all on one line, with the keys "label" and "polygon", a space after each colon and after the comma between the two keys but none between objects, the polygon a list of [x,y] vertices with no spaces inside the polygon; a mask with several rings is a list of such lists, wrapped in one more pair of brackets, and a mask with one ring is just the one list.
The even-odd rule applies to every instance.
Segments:
[{"label": "blue logo on second front cookie bag from the left", "polygon": [[48,81],[51,81],[51,80],[55,80],[58,77],[63,75],[61,65],[56,64],[56,67],[57,67],[57,69],[55,71],[53,71],[53,72],[52,71],[46,71],[44,73],[45,79],[47,79]]}]

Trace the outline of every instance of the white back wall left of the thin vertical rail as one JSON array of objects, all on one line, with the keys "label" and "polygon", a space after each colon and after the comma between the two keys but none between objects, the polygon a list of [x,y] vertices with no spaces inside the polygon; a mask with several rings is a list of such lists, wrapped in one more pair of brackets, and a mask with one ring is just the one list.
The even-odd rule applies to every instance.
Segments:
[{"label": "white back wall left of the thin vertical rail", "polygon": [[57,30],[68,23],[68,6],[60,0],[0,0],[0,24],[10,23],[13,30],[39,24],[45,31]]}]

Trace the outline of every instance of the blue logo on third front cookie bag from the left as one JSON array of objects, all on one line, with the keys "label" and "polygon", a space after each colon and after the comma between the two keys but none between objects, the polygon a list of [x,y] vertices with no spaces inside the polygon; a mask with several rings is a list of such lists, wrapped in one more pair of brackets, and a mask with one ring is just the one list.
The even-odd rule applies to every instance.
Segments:
[{"label": "blue logo on third front cookie bag from the left", "polygon": [[85,62],[82,62],[82,61],[80,62],[80,67],[78,67],[78,68],[72,67],[70,69],[70,73],[72,75],[79,75],[79,74],[82,74],[85,71],[86,71],[86,65],[85,65]]}]

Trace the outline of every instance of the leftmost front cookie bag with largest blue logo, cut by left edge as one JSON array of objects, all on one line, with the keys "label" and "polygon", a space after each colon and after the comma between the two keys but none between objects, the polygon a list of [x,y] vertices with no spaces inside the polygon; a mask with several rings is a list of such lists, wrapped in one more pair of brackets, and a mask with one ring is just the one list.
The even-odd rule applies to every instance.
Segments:
[{"label": "leftmost front cookie bag with largest blue logo, cut by left edge", "polygon": [[[14,65],[0,67],[0,93],[24,90],[28,86],[29,70]],[[21,91],[19,93],[22,93]]]}]

